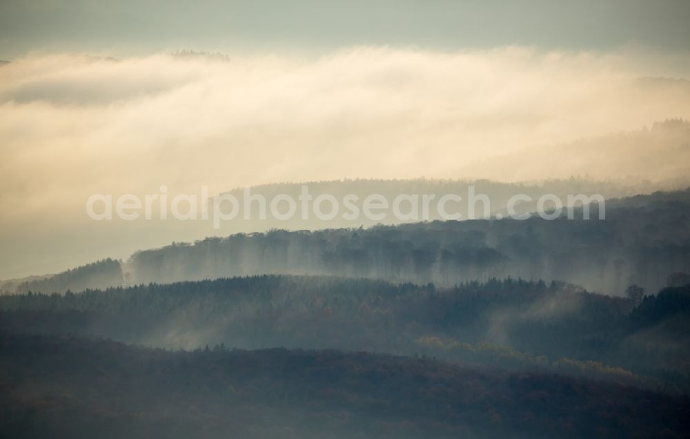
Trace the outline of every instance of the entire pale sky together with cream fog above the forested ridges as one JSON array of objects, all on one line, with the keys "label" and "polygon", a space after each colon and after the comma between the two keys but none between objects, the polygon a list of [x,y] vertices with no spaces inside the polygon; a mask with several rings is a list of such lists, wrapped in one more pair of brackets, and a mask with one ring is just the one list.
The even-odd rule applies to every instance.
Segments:
[{"label": "entire pale sky together with cream fog above the forested ridges", "polygon": [[[643,127],[690,119],[689,11],[687,1],[0,2],[0,59],[11,61],[0,66],[0,278],[203,236],[92,222],[92,193],[687,175],[687,133]],[[227,56],[170,55],[186,49]]]}]

